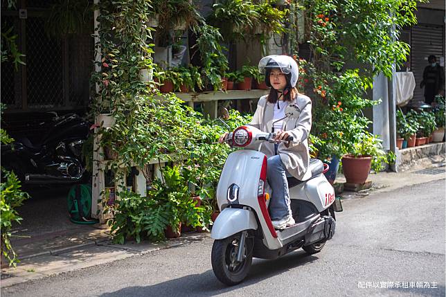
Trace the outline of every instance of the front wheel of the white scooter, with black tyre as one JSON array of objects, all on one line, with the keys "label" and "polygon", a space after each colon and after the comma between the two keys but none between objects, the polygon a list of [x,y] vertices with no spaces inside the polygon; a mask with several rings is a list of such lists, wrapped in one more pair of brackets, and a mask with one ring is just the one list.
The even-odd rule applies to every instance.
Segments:
[{"label": "front wheel of the white scooter, with black tyre", "polygon": [[237,253],[242,233],[215,240],[212,246],[212,269],[220,282],[226,285],[237,285],[247,277],[252,263],[253,239],[247,237],[242,262],[237,262]]}]

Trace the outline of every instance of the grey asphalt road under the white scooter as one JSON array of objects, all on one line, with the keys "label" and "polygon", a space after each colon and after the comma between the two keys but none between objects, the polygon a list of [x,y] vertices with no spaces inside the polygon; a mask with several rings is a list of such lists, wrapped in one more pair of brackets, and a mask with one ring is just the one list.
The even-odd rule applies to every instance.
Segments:
[{"label": "grey asphalt road under the white scooter", "polygon": [[255,259],[247,280],[235,287],[213,275],[213,240],[207,238],[26,282],[1,294],[445,296],[445,195],[443,179],[345,201],[344,212],[337,213],[337,233],[321,253],[307,256],[300,250],[278,260]]}]

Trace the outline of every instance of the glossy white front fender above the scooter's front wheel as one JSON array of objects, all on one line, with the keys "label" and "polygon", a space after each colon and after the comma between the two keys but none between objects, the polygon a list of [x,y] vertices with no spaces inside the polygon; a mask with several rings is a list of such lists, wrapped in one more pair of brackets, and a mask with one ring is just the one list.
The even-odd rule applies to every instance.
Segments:
[{"label": "glossy white front fender above the scooter's front wheel", "polygon": [[257,230],[256,216],[252,210],[224,208],[212,226],[211,238],[222,240],[244,230]]}]

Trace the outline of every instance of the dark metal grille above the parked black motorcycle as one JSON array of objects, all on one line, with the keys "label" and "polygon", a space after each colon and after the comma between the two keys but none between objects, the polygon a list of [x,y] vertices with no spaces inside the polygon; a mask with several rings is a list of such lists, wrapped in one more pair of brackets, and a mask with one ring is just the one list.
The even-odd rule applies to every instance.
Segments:
[{"label": "dark metal grille above the parked black motorcycle", "polygon": [[93,71],[93,24],[91,32],[83,35],[48,37],[42,13],[48,2],[31,2],[38,9],[26,8],[26,19],[19,19],[18,8],[1,12],[2,27],[14,26],[19,51],[26,55],[26,66],[20,66],[19,71],[10,62],[1,64],[1,102],[8,105],[6,112],[87,107]]}]

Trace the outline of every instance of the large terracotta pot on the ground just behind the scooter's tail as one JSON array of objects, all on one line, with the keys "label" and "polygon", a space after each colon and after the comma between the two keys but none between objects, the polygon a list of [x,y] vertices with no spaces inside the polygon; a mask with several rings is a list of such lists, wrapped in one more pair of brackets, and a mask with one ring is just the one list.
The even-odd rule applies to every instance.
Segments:
[{"label": "large terracotta pot on the ground just behind the scooter's tail", "polygon": [[342,169],[348,183],[365,183],[372,165],[372,156],[346,154],[342,157]]}]

